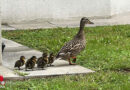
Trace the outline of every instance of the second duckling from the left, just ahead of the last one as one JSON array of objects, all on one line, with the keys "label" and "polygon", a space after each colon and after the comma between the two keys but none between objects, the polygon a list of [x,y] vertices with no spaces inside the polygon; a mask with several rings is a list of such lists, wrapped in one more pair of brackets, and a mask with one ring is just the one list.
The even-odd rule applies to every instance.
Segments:
[{"label": "second duckling from the left, just ahead of the last one", "polygon": [[32,56],[30,59],[27,60],[26,64],[25,64],[25,70],[27,71],[27,69],[32,69],[34,68],[35,64],[36,64],[36,56]]}]

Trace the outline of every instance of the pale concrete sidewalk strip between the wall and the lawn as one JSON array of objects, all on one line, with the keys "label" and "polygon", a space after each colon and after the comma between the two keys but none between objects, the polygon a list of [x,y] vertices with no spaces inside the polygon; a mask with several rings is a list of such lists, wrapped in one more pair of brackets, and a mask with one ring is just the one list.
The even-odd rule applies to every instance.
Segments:
[{"label": "pale concrete sidewalk strip between the wall and the lawn", "polygon": [[[57,27],[79,27],[81,18],[72,18],[69,20],[44,20],[44,21],[30,21],[19,24],[2,25],[2,30],[22,30],[22,29],[41,29],[41,28],[57,28]],[[130,13],[124,13],[112,16],[108,19],[91,19],[94,25],[87,25],[89,27],[105,26],[105,25],[120,25],[130,24]]]}]

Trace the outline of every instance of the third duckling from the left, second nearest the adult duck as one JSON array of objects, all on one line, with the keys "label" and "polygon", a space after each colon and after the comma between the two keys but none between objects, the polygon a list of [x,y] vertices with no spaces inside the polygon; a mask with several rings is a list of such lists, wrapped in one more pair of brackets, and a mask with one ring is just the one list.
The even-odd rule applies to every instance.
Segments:
[{"label": "third duckling from the left, second nearest the adult duck", "polygon": [[37,67],[43,69],[47,63],[48,63],[48,54],[43,53],[42,57],[40,57],[37,60]]}]

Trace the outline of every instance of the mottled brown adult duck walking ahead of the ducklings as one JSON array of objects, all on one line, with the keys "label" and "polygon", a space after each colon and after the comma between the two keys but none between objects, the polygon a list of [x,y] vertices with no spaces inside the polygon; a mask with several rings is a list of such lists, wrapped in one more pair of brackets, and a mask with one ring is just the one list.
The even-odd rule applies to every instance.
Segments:
[{"label": "mottled brown adult duck walking ahead of the ducklings", "polygon": [[[72,40],[67,42],[61,50],[58,52],[56,58],[68,60],[70,65],[75,65],[76,56],[85,49],[86,46],[86,39],[84,34],[84,26],[85,24],[93,24],[90,20],[86,17],[83,17],[80,21],[80,28],[78,33],[73,37]],[[73,58],[72,63],[70,58]]]}]

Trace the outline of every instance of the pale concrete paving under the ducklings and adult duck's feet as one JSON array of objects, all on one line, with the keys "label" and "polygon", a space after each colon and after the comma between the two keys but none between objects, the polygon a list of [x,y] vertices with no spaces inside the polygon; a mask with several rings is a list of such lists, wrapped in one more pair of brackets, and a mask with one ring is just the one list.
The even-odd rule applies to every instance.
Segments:
[{"label": "pale concrete paving under the ducklings and adult duck's feet", "polygon": [[[93,73],[94,71],[87,69],[85,67],[79,65],[69,65],[67,61],[64,60],[55,60],[53,63],[54,66],[45,67],[44,70],[38,69],[36,66],[34,70],[25,71],[25,66],[21,67],[22,70],[18,71],[20,73],[25,73],[27,75],[20,76],[14,70],[14,63],[16,60],[19,59],[20,56],[24,55],[26,59],[29,59],[31,56],[40,57],[42,53],[37,50],[30,49],[26,46],[23,46],[19,43],[14,41],[8,40],[3,38],[3,42],[6,45],[5,51],[3,53],[3,61],[2,64],[8,72],[11,73],[6,75],[6,79],[8,80],[17,80],[17,79],[28,79],[28,78],[35,78],[35,77],[47,77],[47,76],[59,76],[59,75],[72,75],[72,74],[87,74]],[[7,72],[7,70],[0,70],[0,72]],[[14,74],[16,73],[16,75]],[[0,73],[1,74],[1,73]],[[12,75],[13,74],[13,75]],[[3,73],[3,76],[4,73]]]}]

